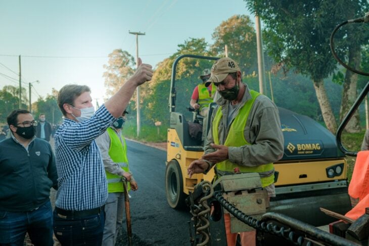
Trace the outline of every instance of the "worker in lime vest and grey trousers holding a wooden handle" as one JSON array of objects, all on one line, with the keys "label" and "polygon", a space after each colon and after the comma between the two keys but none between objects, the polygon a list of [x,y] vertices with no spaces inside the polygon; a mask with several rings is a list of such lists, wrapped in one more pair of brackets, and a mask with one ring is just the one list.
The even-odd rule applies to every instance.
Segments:
[{"label": "worker in lime vest and grey trousers holding a wooden handle", "polygon": [[[113,124],[96,139],[101,156],[103,157],[106,178],[108,181],[108,200],[105,203],[105,227],[102,245],[115,245],[118,231],[122,228],[124,212],[124,187],[126,179],[128,190],[137,190],[137,182],[129,171],[127,158],[127,145],[122,135],[126,121],[124,110]],[[123,179],[124,178],[124,179]]]}]

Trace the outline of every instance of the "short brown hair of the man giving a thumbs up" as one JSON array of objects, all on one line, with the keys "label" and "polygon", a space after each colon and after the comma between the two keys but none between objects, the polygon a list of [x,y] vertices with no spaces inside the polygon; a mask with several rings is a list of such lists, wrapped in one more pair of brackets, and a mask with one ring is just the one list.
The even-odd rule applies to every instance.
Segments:
[{"label": "short brown hair of the man giving a thumbs up", "polygon": [[58,106],[64,116],[67,115],[67,112],[64,110],[63,105],[69,104],[71,106],[74,106],[74,100],[83,92],[91,92],[91,90],[87,85],[78,84],[67,84],[59,90]]}]

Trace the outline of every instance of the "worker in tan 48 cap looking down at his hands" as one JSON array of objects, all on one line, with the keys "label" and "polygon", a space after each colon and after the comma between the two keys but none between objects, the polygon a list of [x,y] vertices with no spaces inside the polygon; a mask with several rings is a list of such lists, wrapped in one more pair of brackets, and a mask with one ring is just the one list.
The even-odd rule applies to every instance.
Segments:
[{"label": "worker in tan 48 cap looking down at his hands", "polygon": [[[275,196],[273,162],[283,156],[284,139],[279,112],[268,97],[250,90],[242,82],[238,64],[221,58],[211,68],[205,86],[213,83],[219,92],[211,116],[208,143],[200,160],[193,161],[190,177],[215,167],[215,179],[236,172],[260,174],[268,196]],[[224,214],[227,245],[236,245],[237,233],[230,233],[230,217]],[[255,245],[255,231],[242,232],[242,245]]]}]

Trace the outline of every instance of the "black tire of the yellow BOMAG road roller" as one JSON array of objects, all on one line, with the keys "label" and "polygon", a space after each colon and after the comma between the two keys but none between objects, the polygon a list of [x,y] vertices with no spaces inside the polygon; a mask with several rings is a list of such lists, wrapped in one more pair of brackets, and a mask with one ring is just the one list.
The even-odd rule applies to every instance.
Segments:
[{"label": "black tire of the yellow BOMAG road roller", "polygon": [[173,209],[186,208],[183,192],[182,172],[176,160],[171,160],[165,169],[165,193],[169,206]]}]

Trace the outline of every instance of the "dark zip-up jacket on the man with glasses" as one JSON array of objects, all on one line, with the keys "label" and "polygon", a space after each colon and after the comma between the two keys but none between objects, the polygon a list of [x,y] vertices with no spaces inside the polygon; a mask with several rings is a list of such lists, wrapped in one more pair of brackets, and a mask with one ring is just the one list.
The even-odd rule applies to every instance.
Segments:
[{"label": "dark zip-up jacket on the man with glasses", "polygon": [[50,188],[58,188],[51,145],[34,138],[23,145],[7,138],[0,142],[0,210],[24,212],[49,200]]}]

